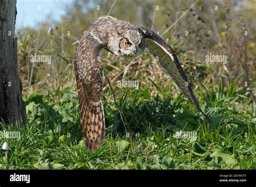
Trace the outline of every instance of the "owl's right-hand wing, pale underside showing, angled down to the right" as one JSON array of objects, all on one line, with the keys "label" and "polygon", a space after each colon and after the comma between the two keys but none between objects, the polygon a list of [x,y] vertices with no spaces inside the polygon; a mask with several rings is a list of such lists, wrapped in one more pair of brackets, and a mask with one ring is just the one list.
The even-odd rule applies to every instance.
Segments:
[{"label": "owl's right-hand wing, pale underside showing, angled down to the right", "polygon": [[204,117],[212,123],[211,119],[201,110],[196,97],[194,96],[193,90],[187,77],[181,67],[178,57],[173,49],[159,37],[159,35],[148,28],[140,27],[145,34],[146,48],[149,49],[149,53],[152,54],[157,61],[160,62],[161,66],[172,76],[173,81],[181,89],[185,97],[190,101],[191,104],[196,106],[196,109],[201,112]]}]

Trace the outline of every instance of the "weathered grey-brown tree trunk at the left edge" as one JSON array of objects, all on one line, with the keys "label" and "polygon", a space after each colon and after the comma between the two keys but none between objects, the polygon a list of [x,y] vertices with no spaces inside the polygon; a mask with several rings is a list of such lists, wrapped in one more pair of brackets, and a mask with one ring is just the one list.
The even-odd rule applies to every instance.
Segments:
[{"label": "weathered grey-brown tree trunk at the left edge", "polygon": [[26,124],[17,69],[16,0],[0,0],[0,123]]}]

